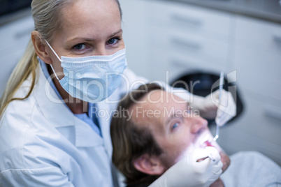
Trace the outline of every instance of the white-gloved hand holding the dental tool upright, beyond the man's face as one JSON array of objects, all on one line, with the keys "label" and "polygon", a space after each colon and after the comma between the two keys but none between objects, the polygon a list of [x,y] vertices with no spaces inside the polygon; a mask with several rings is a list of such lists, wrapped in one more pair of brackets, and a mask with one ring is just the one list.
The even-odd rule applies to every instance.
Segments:
[{"label": "white-gloved hand holding the dental tool upright, beyond the man's face", "polygon": [[[229,91],[222,90],[222,96],[219,103],[219,90],[210,93],[208,96],[195,96],[192,102],[189,102],[191,107],[199,110],[201,117],[206,119],[215,118],[218,126],[223,126],[231,118],[236,115],[236,103]],[[217,110],[217,108],[219,110]]]}]

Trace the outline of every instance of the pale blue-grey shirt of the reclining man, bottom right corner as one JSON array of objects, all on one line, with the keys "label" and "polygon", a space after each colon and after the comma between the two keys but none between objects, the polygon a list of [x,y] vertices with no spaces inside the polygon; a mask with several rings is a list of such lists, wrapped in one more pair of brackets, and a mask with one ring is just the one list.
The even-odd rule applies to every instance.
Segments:
[{"label": "pale blue-grey shirt of the reclining man, bottom right corner", "polygon": [[281,167],[258,152],[239,152],[220,177],[226,187],[281,186]]}]

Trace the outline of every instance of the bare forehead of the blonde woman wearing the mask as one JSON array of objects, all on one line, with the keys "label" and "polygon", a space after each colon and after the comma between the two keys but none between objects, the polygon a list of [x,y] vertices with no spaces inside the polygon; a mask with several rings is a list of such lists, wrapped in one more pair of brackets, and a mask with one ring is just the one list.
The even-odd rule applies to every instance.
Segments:
[{"label": "bare forehead of the blonde woman wearing the mask", "polygon": [[79,0],[62,9],[62,37],[104,38],[120,29],[120,10],[113,0]]}]

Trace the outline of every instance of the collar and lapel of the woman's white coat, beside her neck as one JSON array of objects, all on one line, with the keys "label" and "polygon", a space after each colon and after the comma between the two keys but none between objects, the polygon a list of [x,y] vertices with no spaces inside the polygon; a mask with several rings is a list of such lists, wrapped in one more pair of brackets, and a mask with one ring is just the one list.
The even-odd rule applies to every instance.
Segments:
[{"label": "collar and lapel of the woman's white coat, beside her neck", "polygon": [[103,144],[103,139],[87,123],[75,117],[59,99],[43,74],[40,65],[37,73],[38,80],[34,94],[45,119],[55,128],[75,126],[76,147],[95,147]]}]

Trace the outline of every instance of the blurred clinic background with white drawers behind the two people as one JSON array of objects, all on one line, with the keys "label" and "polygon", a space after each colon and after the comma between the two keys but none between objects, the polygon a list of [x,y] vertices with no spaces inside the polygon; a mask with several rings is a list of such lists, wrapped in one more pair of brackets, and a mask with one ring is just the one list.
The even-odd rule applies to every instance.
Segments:
[{"label": "blurred clinic background with white drawers behind the two people", "polygon": [[[0,0],[0,94],[34,28],[30,3]],[[170,84],[200,80],[202,96],[223,70],[238,116],[217,141],[227,154],[260,151],[281,165],[281,1],[120,3],[129,68]]]}]

